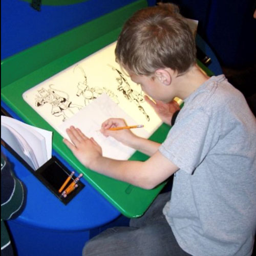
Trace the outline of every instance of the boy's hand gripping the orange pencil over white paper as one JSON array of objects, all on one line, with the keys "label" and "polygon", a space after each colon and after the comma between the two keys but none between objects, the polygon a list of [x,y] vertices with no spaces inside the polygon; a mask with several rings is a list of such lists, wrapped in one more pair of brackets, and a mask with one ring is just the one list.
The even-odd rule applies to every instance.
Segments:
[{"label": "boy's hand gripping the orange pencil over white paper", "polygon": [[137,136],[134,133],[132,133],[130,129],[117,130],[117,131],[109,130],[112,127],[120,127],[120,126],[127,126],[126,122],[123,119],[109,118],[108,120],[102,123],[100,132],[106,137],[111,136],[114,139],[122,142],[127,146],[132,146],[133,140]]}]

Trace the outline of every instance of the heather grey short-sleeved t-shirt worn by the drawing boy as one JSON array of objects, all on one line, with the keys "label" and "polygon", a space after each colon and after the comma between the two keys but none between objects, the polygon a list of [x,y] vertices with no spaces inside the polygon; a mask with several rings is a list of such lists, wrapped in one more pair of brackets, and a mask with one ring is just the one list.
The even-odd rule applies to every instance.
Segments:
[{"label": "heather grey short-sleeved t-shirt worn by the drawing boy", "polygon": [[256,230],[256,120],[224,75],[185,99],[159,148],[180,169],[163,213],[196,256],[250,255]]}]

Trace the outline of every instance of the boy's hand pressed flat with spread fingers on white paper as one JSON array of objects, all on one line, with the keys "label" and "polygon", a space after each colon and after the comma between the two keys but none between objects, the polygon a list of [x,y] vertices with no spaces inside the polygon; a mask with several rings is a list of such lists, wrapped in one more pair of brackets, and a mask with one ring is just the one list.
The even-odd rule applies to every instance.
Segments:
[{"label": "boy's hand pressed flat with spread fingers on white paper", "polygon": [[97,161],[97,158],[102,157],[100,145],[93,138],[88,138],[80,129],[74,126],[70,126],[66,131],[73,144],[67,139],[63,139],[63,142],[84,166],[91,168],[92,163]]}]

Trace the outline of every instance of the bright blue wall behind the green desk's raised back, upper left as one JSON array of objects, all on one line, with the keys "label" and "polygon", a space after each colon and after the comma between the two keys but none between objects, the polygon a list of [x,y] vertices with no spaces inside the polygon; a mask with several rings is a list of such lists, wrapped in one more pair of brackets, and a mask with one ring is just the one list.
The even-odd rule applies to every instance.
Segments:
[{"label": "bright blue wall behind the green desk's raised back, upper left", "polygon": [[[38,12],[22,0],[1,0],[1,59],[135,1],[88,0],[72,5],[42,5]],[[155,2],[150,0],[148,4]]]}]

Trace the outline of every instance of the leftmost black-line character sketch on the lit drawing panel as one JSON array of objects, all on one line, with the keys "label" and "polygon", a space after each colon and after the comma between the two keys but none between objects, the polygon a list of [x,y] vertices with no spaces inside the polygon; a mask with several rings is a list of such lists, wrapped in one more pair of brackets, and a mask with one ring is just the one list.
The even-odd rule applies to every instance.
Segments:
[{"label": "leftmost black-line character sketch on the lit drawing panel", "polygon": [[[69,95],[63,91],[59,91],[53,89],[53,84],[49,85],[49,89],[41,88],[37,92],[40,96],[36,95],[35,105],[37,107],[43,106],[48,103],[52,105],[51,114],[53,116],[62,117],[62,121],[66,121],[66,119],[75,113],[71,110],[71,108],[76,108],[80,110],[82,106],[73,104],[69,100]],[[58,93],[56,93],[58,92]],[[65,96],[60,96],[60,94],[64,94]]]}]

